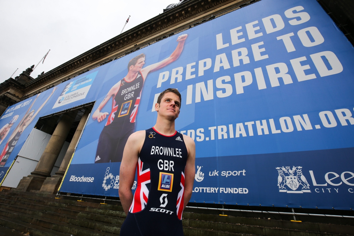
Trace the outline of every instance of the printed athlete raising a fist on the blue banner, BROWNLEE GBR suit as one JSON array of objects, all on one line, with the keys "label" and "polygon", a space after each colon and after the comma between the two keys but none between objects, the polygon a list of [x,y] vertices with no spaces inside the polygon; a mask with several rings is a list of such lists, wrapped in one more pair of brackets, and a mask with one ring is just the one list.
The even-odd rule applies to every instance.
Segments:
[{"label": "printed athlete raising a fist on the blue banner, BROWNLEE GBR suit", "polygon": [[[128,74],[109,90],[92,115],[92,119],[97,119],[98,122],[103,121],[109,115],[98,139],[95,163],[120,162],[122,160],[125,143],[135,129],[135,118],[146,76],[150,72],[176,61],[183,50],[186,38],[187,34],[178,36],[178,45],[175,51],[161,62],[143,68],[145,64],[145,54],[143,53],[130,60]],[[110,98],[112,98],[111,113],[101,112]]]}]

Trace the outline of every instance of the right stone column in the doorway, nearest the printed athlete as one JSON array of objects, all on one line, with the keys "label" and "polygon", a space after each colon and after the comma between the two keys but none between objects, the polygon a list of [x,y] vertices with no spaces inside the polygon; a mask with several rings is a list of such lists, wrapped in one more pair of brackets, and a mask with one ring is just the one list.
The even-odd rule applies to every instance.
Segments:
[{"label": "right stone column in the doorway, nearest the printed athlete", "polygon": [[81,117],[79,126],[78,126],[78,128],[76,128],[74,137],[70,142],[69,148],[65,153],[64,159],[60,165],[59,170],[57,172],[55,172],[55,175],[53,175],[52,177],[47,177],[44,180],[43,185],[42,185],[41,189],[39,190],[39,192],[53,194],[56,191],[58,191],[58,188],[62,182],[63,176],[65,174],[67,167],[68,167],[70,159],[73,156],[73,153],[75,151],[75,146],[78,143],[82,129],[85,126],[87,117],[89,117],[90,111],[91,110],[86,109],[84,115]]}]

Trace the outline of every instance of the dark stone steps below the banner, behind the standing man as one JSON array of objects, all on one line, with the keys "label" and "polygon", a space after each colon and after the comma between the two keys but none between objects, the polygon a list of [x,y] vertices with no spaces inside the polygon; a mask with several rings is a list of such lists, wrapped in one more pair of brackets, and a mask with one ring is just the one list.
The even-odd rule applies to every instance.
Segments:
[{"label": "dark stone steps below the banner, behind the standing man", "polygon": [[[99,200],[97,200],[99,201]],[[103,200],[102,200],[103,201]],[[109,200],[107,200],[108,202]],[[77,201],[74,197],[7,190],[0,192],[0,225],[30,235],[119,235],[125,219],[119,202]],[[190,210],[187,208],[187,211]],[[352,235],[354,226],[183,213],[185,236]]]}]

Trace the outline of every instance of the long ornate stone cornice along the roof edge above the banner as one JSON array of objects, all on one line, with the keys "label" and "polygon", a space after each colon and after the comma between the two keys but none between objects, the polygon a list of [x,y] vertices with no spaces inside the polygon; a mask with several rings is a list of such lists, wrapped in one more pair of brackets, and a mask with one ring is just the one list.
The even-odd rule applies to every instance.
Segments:
[{"label": "long ornate stone cornice along the roof edge above the banner", "polygon": [[25,85],[26,96],[151,44],[219,12],[256,0],[189,0],[73,58]]}]

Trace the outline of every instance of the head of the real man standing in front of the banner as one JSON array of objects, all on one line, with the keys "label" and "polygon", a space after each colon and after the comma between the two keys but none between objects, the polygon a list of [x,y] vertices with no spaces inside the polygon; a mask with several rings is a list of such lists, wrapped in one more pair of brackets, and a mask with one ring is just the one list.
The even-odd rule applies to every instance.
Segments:
[{"label": "head of the real man standing in front of the banner", "polygon": [[168,92],[165,93],[161,99],[160,104],[156,103],[155,110],[160,116],[165,116],[175,120],[179,115],[179,108],[181,107],[181,100],[177,94]]}]

